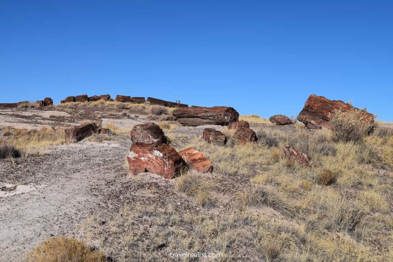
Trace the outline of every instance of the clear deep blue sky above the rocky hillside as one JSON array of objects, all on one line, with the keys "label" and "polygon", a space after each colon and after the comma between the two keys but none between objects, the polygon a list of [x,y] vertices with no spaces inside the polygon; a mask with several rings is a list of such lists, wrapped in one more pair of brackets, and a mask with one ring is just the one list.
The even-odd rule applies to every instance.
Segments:
[{"label": "clear deep blue sky above the rocky hillside", "polygon": [[0,0],[0,102],[107,93],[393,121],[393,2]]}]

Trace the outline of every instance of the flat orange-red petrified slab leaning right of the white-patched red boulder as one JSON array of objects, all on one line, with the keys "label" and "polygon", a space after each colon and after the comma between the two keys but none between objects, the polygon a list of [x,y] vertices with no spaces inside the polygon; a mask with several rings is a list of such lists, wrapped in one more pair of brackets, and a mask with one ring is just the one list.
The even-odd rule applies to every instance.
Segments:
[{"label": "flat orange-red petrified slab leaning right of the white-patched red boulder", "polygon": [[195,148],[186,148],[180,151],[179,155],[190,168],[195,169],[198,172],[206,173],[213,170],[210,160],[208,160],[200,151]]}]

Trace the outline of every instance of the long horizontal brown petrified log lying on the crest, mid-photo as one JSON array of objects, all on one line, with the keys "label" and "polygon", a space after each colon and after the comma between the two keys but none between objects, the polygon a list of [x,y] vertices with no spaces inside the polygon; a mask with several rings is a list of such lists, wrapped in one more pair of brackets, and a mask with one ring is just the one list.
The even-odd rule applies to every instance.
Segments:
[{"label": "long horizontal brown petrified log lying on the crest, mid-photo", "polygon": [[239,113],[228,106],[191,106],[173,110],[172,115],[183,125],[227,125],[239,120]]}]

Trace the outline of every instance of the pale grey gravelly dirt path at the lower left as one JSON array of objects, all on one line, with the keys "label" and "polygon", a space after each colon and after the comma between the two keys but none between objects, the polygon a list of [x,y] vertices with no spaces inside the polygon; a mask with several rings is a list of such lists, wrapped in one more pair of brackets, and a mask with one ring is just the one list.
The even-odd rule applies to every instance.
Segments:
[{"label": "pale grey gravelly dirt path at the lower left", "polygon": [[14,194],[0,194],[0,261],[24,261],[25,253],[48,237],[75,234],[75,226],[102,203],[104,194],[95,188],[112,190],[114,182],[126,180],[128,141],[118,139],[54,146],[15,164],[2,160],[2,182],[21,186]]}]

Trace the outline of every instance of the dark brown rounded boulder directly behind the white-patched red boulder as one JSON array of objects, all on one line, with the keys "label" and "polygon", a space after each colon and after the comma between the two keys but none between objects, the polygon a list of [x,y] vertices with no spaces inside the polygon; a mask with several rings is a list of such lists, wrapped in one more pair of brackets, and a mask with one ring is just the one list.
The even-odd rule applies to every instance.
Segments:
[{"label": "dark brown rounded boulder directly behind the white-patched red boulder", "polygon": [[135,125],[131,130],[131,140],[133,143],[165,143],[167,138],[159,125],[147,123]]}]

